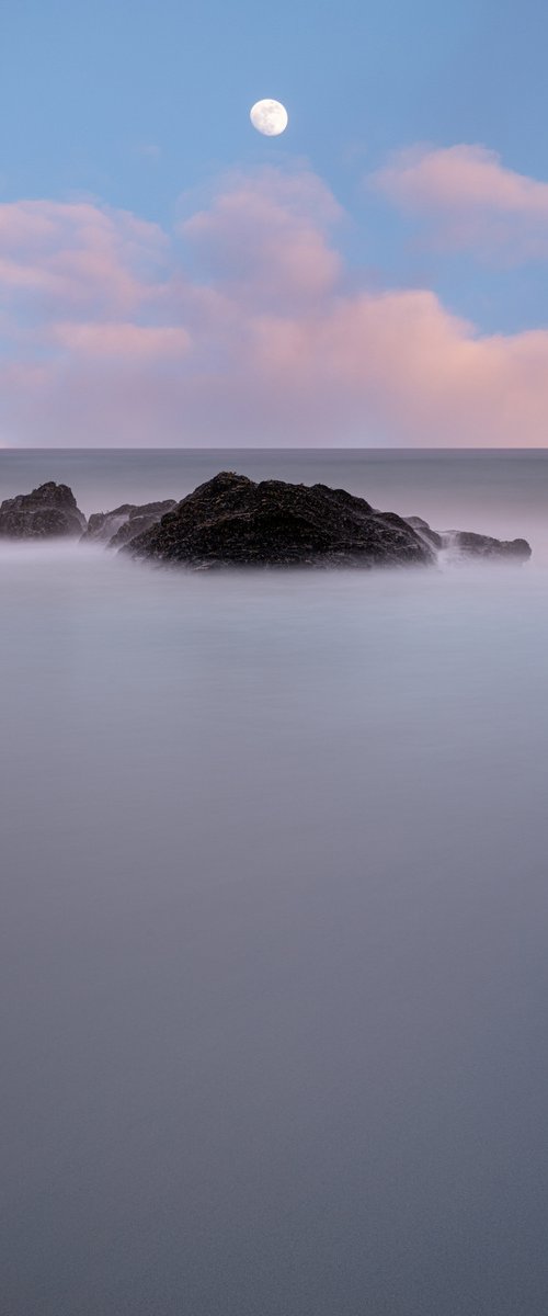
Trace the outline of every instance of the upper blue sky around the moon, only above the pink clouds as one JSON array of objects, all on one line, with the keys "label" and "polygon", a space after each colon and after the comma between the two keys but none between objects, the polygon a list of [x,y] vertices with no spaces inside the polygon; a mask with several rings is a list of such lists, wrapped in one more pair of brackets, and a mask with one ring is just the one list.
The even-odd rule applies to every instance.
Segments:
[{"label": "upper blue sky around the moon, only above the pink clouds", "polygon": [[[286,150],[335,191],[352,145],[375,163],[411,141],[481,141],[523,172],[545,164],[539,0],[4,0],[1,30],[7,195],[108,190],[158,217],[204,170],[256,158],[262,95],[288,104]],[[152,190],[143,143],[163,153]]]}]

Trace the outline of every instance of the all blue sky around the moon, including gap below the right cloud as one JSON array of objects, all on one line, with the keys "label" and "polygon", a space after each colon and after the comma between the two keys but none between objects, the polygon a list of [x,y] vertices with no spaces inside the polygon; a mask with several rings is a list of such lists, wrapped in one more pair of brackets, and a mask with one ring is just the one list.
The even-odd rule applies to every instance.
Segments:
[{"label": "all blue sky around the moon, including gap below the right cloud", "polygon": [[[536,0],[4,0],[0,200],[87,200],[172,232],[234,171],[310,171],[344,211],[347,282],[427,288],[480,334],[544,329],[544,251],[432,241],[423,211],[371,178],[417,143],[465,143],[543,183],[547,46]],[[281,138],[248,122],[262,96],[288,107]]]}]

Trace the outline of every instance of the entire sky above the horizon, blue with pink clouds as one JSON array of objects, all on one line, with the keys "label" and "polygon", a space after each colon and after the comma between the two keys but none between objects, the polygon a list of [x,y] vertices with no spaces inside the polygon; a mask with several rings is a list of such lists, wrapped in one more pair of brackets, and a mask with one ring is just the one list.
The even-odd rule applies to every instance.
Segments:
[{"label": "entire sky above the horizon, blue with pink clouds", "polygon": [[547,47],[544,0],[0,0],[0,445],[545,446]]}]

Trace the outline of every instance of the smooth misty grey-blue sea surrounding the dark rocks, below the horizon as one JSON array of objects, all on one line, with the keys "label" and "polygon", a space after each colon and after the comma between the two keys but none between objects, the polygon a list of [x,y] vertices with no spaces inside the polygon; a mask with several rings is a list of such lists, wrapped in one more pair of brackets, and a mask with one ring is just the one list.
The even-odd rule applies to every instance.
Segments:
[{"label": "smooth misty grey-blue sea surrounding the dark rocks, below the horizon", "polygon": [[218,470],[532,558],[0,544],[0,1309],[545,1316],[548,450],[3,450],[0,497]]}]

